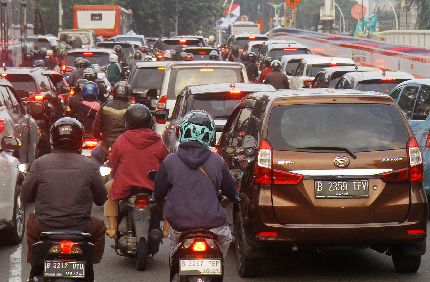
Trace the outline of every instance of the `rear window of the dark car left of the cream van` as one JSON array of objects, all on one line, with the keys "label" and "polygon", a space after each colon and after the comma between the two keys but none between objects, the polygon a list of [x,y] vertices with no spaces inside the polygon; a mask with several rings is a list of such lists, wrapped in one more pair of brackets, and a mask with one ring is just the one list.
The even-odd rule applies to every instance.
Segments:
[{"label": "rear window of the dark car left of the cream van", "polygon": [[129,83],[132,88],[161,89],[163,76],[164,68],[142,67],[136,69],[133,76],[130,77],[132,80]]}]

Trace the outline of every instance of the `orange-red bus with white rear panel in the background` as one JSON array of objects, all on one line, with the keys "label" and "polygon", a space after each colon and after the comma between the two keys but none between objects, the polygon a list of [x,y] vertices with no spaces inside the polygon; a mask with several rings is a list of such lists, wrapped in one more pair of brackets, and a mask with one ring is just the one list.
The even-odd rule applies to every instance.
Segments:
[{"label": "orange-red bus with white rear panel in the background", "polygon": [[126,34],[132,25],[132,10],[120,6],[80,5],[73,7],[73,28],[90,29],[105,39]]}]

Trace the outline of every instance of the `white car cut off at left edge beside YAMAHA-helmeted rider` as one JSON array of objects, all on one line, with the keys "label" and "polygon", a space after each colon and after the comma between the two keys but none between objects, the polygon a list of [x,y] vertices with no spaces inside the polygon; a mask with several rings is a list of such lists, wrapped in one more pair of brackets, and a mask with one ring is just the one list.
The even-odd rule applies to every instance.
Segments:
[{"label": "white car cut off at left edge beside YAMAHA-helmeted rider", "polygon": [[20,187],[24,175],[18,171],[19,160],[10,152],[18,150],[21,142],[14,137],[5,136],[1,141],[0,167],[0,238],[2,245],[18,245],[22,242],[25,230],[25,208],[21,199]]}]

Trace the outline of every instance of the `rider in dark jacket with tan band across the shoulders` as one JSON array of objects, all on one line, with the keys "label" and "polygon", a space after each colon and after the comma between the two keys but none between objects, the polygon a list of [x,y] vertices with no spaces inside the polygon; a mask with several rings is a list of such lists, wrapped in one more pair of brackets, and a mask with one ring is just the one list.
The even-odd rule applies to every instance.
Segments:
[{"label": "rider in dark jacket with tan band across the shoulders", "polygon": [[114,99],[106,102],[98,110],[92,124],[92,136],[100,138],[102,145],[112,146],[118,136],[126,131],[123,115],[130,106],[129,100],[133,93],[132,86],[120,81],[114,86]]}]

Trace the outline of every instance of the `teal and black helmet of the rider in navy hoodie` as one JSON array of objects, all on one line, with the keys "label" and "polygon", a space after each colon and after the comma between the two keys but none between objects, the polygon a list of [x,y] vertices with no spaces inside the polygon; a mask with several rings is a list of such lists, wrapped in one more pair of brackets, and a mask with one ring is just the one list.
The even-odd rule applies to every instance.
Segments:
[{"label": "teal and black helmet of the rider in navy hoodie", "polygon": [[209,147],[215,139],[215,122],[212,116],[204,110],[192,110],[182,119],[179,127],[179,141],[197,141]]}]

